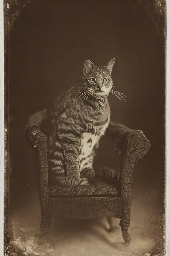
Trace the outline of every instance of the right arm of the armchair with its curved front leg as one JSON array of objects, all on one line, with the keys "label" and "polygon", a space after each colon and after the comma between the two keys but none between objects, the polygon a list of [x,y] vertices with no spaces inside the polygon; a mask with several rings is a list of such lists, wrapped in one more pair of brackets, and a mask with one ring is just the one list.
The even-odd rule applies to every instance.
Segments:
[{"label": "right arm of the armchair with its curved front leg", "polygon": [[141,130],[131,130],[121,124],[110,123],[107,134],[112,140],[118,140],[123,146],[121,183],[121,220],[122,236],[126,243],[130,242],[128,228],[130,226],[132,176],[135,164],[144,157],[150,148],[150,142]]}]

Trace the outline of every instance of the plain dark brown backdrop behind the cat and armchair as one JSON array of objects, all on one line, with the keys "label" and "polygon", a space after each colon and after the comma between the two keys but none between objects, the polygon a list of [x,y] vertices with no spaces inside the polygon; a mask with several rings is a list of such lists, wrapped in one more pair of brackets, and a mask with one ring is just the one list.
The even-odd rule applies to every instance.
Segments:
[{"label": "plain dark brown backdrop behind the cat and armchair", "polygon": [[[137,0],[36,1],[21,11],[10,34],[9,63],[9,112],[14,117],[10,194],[11,216],[16,221],[23,216],[25,220],[31,216],[37,226],[40,221],[39,204],[34,201],[35,153],[25,139],[28,116],[50,107],[63,88],[78,82],[86,59],[96,66],[116,59],[112,79],[130,101],[120,102],[110,95],[111,120],[141,129],[151,142],[134,169],[133,226],[142,219],[140,226],[147,228],[147,217],[163,210],[165,42],[161,22],[158,33]],[[95,165],[114,168],[110,144],[102,140]]]}]

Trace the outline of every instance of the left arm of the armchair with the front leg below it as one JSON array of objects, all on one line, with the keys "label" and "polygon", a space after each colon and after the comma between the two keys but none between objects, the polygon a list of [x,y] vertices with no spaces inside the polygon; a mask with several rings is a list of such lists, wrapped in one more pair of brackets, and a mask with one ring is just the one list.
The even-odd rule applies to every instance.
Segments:
[{"label": "left arm of the armchair with the front leg below it", "polygon": [[[42,110],[29,117],[29,122],[26,125],[27,136],[37,149],[39,157],[39,197],[41,203],[41,216],[44,232],[49,225],[48,220],[48,162],[47,162],[47,137],[40,131],[41,123],[46,119],[47,110]],[[43,232],[43,231],[42,231]]]}]

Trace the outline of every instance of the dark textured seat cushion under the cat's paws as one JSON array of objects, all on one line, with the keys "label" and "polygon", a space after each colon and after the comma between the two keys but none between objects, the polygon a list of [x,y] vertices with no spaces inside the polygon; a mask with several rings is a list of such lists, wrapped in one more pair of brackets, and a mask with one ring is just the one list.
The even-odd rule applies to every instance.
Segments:
[{"label": "dark textured seat cushion under the cat's paws", "polygon": [[49,197],[87,197],[87,196],[119,196],[112,184],[95,178],[88,185],[64,186],[52,182],[49,184]]}]

